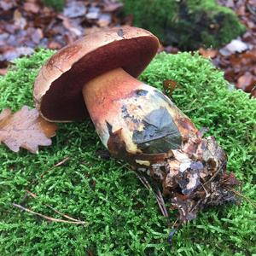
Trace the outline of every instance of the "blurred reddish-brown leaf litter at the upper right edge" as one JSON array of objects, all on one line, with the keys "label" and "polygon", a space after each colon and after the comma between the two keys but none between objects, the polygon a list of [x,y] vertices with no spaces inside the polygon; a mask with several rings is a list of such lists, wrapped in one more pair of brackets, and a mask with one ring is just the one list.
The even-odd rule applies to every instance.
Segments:
[{"label": "blurred reddish-brown leaf litter at the upper right edge", "polygon": [[211,57],[213,64],[224,70],[224,78],[230,84],[256,97],[256,1],[218,0],[218,3],[233,9],[247,32],[221,49],[200,49],[200,53]]}]

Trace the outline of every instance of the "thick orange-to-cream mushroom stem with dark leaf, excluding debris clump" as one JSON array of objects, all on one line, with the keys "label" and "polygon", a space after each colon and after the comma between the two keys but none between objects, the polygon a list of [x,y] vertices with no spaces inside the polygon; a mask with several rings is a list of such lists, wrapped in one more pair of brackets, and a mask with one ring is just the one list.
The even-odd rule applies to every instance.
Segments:
[{"label": "thick orange-to-cream mushroom stem with dark leaf, excluding debris clump", "polygon": [[84,85],[83,96],[110,153],[109,143],[113,137],[116,143],[117,134],[128,154],[163,154],[180,148],[183,138],[196,132],[193,123],[160,90],[134,79],[122,68],[91,79]]}]

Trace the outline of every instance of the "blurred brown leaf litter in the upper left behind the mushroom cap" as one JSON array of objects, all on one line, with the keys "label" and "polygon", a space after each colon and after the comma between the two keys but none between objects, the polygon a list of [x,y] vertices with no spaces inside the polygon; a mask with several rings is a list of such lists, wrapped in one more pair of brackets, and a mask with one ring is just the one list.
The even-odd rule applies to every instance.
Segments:
[{"label": "blurred brown leaf litter in the upper left behind the mushroom cap", "polygon": [[0,69],[22,55],[43,47],[60,49],[102,27],[119,26],[122,4],[108,0],[68,0],[62,12],[39,0],[0,1]]}]

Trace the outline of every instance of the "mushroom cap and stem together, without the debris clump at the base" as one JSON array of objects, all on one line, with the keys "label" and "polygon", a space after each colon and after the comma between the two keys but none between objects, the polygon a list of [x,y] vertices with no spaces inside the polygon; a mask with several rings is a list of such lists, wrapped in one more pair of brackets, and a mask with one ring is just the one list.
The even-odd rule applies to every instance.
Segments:
[{"label": "mushroom cap and stem together, without the debris clump at the base", "polygon": [[[81,38],[40,70],[36,106],[45,119],[56,122],[84,119],[89,113],[111,154],[150,166],[150,154],[177,149],[182,137],[196,131],[160,90],[136,79],[158,47],[158,38],[136,27]],[[175,119],[186,120],[188,129],[179,130]]]}]

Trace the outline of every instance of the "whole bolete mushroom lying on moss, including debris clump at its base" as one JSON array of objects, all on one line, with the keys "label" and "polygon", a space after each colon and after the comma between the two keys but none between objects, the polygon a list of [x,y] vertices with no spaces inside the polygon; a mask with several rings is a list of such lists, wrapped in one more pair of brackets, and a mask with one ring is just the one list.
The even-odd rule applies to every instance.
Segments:
[{"label": "whole bolete mushroom lying on moss, including debris clump at its base", "polygon": [[90,34],[44,64],[33,96],[50,121],[90,114],[110,154],[159,179],[185,221],[232,197],[220,184],[226,156],[160,90],[136,79],[158,48],[158,38],[141,28]]}]

